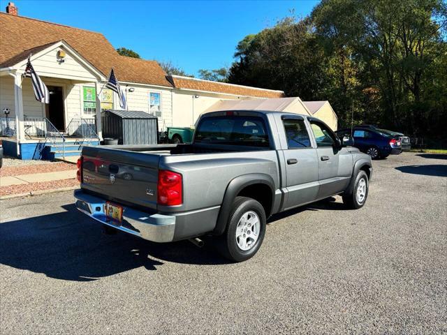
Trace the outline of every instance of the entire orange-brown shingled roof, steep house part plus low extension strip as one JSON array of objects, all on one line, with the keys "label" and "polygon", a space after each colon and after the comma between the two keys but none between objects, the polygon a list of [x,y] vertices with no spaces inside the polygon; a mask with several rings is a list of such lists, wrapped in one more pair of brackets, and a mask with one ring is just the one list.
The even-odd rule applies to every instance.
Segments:
[{"label": "entire orange-brown shingled roof, steep house part plus low extension strip", "polygon": [[103,34],[7,13],[0,13],[0,68],[13,66],[26,59],[29,53],[44,50],[59,40],[65,40],[103,75],[108,76],[113,68],[121,82],[174,86],[179,89],[256,98],[284,97],[283,91],[166,76],[156,61],[120,56]]}]

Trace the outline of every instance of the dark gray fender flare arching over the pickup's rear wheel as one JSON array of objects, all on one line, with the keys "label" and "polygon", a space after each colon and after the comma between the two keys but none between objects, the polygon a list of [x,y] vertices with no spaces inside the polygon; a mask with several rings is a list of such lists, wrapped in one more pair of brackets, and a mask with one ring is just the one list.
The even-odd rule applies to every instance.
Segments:
[{"label": "dark gray fender flare arching over the pickup's rear wheel", "polygon": [[[272,192],[272,206],[274,200],[274,181],[272,177],[268,174],[263,173],[249,173],[242,174],[242,176],[235,177],[232,179],[228,186],[226,186],[226,191],[223,195],[223,200],[221,204],[221,209],[219,211],[219,216],[217,218],[216,227],[214,228],[212,234],[221,235],[225,232],[226,225],[228,223],[228,216],[230,216],[231,206],[235,201],[237,194],[240,193],[244,188],[254,184],[265,184],[269,186]],[[271,209],[270,209],[271,211]]]}]

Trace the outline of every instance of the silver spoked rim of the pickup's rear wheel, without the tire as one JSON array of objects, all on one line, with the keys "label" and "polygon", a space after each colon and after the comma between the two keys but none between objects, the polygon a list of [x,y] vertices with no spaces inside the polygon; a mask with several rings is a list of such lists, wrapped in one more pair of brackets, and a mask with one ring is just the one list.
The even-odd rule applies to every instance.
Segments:
[{"label": "silver spoked rim of the pickup's rear wheel, without the tire", "polygon": [[236,227],[236,243],[242,251],[250,250],[258,241],[261,220],[254,211],[245,212]]}]

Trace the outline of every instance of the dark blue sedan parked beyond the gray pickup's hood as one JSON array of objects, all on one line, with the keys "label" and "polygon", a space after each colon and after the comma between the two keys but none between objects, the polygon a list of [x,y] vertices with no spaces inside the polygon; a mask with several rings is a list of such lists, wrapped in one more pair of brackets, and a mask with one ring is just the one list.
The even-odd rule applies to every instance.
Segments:
[{"label": "dark blue sedan parked beyond the gray pickup's hood", "polygon": [[[342,129],[336,132],[342,138],[351,135],[351,129]],[[373,159],[386,158],[390,154],[400,154],[402,144],[399,136],[384,133],[372,128],[353,128],[354,147],[365,152]]]}]

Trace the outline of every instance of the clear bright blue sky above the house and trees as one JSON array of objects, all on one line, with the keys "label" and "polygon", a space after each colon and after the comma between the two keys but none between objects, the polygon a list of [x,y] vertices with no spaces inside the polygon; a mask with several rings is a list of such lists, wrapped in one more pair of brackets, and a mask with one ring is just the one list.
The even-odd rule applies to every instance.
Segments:
[{"label": "clear bright blue sky above the house and trees", "polygon": [[[114,47],[186,73],[230,66],[237,43],[319,1],[13,0],[19,15],[101,32]],[[0,0],[1,10],[8,1]]]}]

